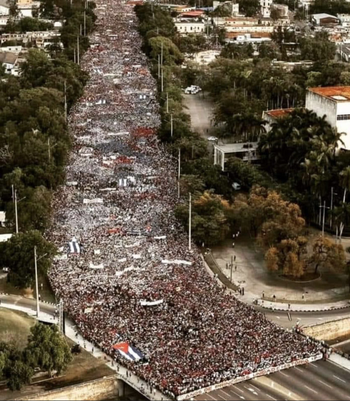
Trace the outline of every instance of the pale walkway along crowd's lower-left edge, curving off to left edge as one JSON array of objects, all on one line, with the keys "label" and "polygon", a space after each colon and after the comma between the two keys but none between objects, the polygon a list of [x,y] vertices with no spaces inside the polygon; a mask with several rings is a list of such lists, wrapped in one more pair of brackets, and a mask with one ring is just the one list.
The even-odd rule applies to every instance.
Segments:
[{"label": "pale walkway along crowd's lower-left edge, curving off to left edge", "polygon": [[[16,302],[16,298],[19,298],[19,297],[14,296],[14,302]],[[25,298],[25,299],[28,299],[28,298]],[[27,313],[30,316],[35,317],[36,316],[36,306],[35,305],[36,305],[36,303],[35,303],[35,300],[33,299],[32,307],[19,306],[16,304],[10,304],[8,302],[1,302],[0,306],[8,308],[8,309],[20,310],[22,312]],[[39,319],[44,322],[47,322],[47,323],[58,324],[58,320],[53,318],[53,312],[55,310],[55,306],[54,305],[50,306],[50,304],[43,303],[43,302],[40,302],[40,306],[43,306],[43,307],[45,306],[45,308],[52,308],[52,313],[47,313],[47,312],[40,310]],[[92,354],[95,358],[104,359],[106,361],[106,364],[108,365],[108,367],[115,370],[116,374],[118,374],[123,381],[125,381],[127,384],[129,384],[131,387],[133,387],[138,392],[145,395],[148,399],[154,399],[154,400],[160,400],[160,401],[170,400],[169,397],[165,396],[163,393],[161,393],[159,390],[155,389],[154,387],[151,387],[150,385],[148,385],[148,383],[146,383],[144,380],[140,379],[138,376],[133,374],[132,371],[130,371],[129,369],[125,368],[122,365],[119,365],[116,361],[112,361],[111,357],[108,356],[107,354],[105,354],[96,345],[93,345],[89,341],[86,341],[80,334],[77,334],[77,335],[76,334],[77,334],[77,332],[76,332],[75,324],[72,322],[71,319],[66,318],[65,319],[65,336],[66,337],[68,337],[74,343],[79,344],[82,348],[85,349],[85,351]]]}]

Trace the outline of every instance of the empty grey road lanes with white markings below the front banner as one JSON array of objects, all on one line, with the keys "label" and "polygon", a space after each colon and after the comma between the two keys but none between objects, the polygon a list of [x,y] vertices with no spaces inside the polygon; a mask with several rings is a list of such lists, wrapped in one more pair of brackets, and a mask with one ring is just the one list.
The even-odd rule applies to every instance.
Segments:
[{"label": "empty grey road lanes with white markings below the front banner", "polygon": [[[292,400],[294,392],[303,400],[350,399],[350,371],[332,362],[317,361],[269,375],[275,388],[248,380],[195,397],[198,400]],[[283,391],[280,391],[281,387]]]}]

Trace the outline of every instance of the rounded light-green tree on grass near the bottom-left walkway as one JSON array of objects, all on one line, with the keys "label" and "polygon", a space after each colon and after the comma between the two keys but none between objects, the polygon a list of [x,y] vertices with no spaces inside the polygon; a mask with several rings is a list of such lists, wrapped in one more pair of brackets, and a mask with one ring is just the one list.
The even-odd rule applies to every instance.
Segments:
[{"label": "rounded light-green tree on grass near the bottom-left walkway", "polygon": [[28,364],[40,367],[51,377],[52,371],[57,374],[64,371],[72,360],[70,348],[56,325],[36,324],[30,329],[25,355]]}]

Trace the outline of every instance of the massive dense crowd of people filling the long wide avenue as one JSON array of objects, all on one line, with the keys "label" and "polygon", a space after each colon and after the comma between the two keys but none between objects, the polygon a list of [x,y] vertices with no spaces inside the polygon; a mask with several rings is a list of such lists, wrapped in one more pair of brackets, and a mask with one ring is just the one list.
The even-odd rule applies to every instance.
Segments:
[{"label": "massive dense crowd of people filling the long wide avenue", "polygon": [[[136,17],[120,0],[96,3],[81,61],[90,79],[69,116],[74,146],[47,232],[60,249],[49,277],[65,309],[86,339],[172,397],[319,354],[225,292],[188,249]],[[67,246],[72,238],[79,247]],[[144,358],[124,358],[120,342]]]}]

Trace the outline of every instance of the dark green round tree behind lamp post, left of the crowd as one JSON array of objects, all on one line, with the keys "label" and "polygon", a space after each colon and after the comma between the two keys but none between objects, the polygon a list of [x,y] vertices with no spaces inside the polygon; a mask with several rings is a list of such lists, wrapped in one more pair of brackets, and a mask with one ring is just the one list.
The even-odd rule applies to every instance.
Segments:
[{"label": "dark green round tree behind lamp post, left of the crowd", "polygon": [[38,274],[47,272],[55,254],[55,247],[43,238],[39,231],[14,234],[0,246],[1,266],[9,268],[8,280],[20,288],[33,287],[35,280],[34,247],[36,247],[38,255]]}]

